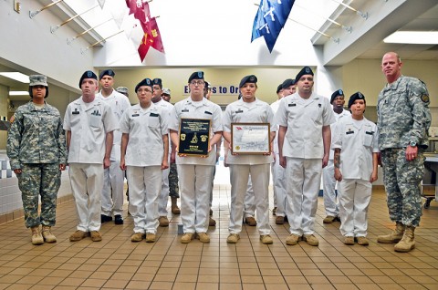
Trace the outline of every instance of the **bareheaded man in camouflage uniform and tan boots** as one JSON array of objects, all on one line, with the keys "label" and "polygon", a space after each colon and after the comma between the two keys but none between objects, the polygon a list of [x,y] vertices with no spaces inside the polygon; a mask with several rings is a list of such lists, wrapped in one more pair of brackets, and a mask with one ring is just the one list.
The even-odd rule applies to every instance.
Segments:
[{"label": "bareheaded man in camouflage uniform and tan boots", "polygon": [[409,252],[415,247],[414,230],[422,216],[420,182],[431,123],[429,93],[418,78],[401,75],[401,59],[394,52],[383,56],[381,70],[388,84],[377,105],[379,149],[388,209],[396,228],[377,241],[397,243],[396,252]]}]

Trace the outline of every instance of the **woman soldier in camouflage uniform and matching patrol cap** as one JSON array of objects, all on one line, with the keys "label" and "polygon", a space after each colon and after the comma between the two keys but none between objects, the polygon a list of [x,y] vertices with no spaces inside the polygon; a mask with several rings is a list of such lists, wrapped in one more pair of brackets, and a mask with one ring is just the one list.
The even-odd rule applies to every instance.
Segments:
[{"label": "woman soldier in camouflage uniform and matching patrol cap", "polygon": [[56,223],[57,191],[61,171],[67,164],[66,137],[59,111],[44,100],[48,96],[46,76],[33,75],[29,79],[32,101],[16,109],[7,135],[7,156],[18,178],[25,224],[32,230],[32,243],[55,243],[57,238],[50,227]]}]

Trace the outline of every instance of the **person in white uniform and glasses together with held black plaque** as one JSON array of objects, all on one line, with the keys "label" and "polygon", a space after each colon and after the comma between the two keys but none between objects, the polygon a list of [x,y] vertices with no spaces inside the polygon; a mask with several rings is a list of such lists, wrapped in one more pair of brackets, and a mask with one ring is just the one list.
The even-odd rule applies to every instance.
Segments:
[{"label": "person in white uniform and glasses together with held black plaque", "polygon": [[203,98],[202,71],[194,72],[188,82],[190,96],[175,104],[169,122],[172,143],[178,144],[175,150],[184,232],[181,243],[190,243],[195,234],[202,243],[210,243],[206,232],[216,163],[213,145],[222,137],[222,110]]}]

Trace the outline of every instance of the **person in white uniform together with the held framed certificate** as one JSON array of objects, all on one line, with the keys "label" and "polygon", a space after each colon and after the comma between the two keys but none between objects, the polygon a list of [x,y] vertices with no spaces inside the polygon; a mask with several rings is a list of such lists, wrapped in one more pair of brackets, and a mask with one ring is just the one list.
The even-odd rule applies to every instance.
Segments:
[{"label": "person in white uniform together with the held framed certificate", "polygon": [[253,181],[255,209],[260,241],[273,243],[269,227],[269,169],[273,161],[271,142],[276,136],[274,113],[269,105],[255,98],[257,78],[242,78],[242,98],[229,104],[224,112],[224,139],[230,143],[231,209],[227,243],[237,243],[242,231],[244,199],[249,174]]}]

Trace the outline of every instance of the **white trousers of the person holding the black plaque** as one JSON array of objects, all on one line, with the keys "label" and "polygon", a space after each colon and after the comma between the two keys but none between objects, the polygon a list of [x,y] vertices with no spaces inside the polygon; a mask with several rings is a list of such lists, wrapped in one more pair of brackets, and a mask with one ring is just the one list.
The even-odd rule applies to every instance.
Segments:
[{"label": "white trousers of the person holding the black plaque", "polygon": [[214,165],[178,164],[184,233],[206,233]]}]

